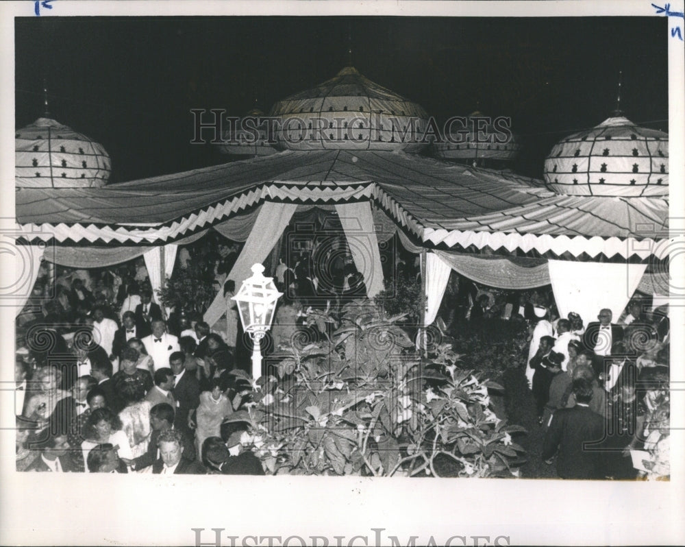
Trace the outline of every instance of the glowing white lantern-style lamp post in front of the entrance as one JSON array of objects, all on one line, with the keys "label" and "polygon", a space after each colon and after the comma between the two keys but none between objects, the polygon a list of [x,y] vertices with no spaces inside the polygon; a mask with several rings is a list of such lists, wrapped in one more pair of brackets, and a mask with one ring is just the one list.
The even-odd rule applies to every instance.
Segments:
[{"label": "glowing white lantern-style lamp post in front of the entrance", "polygon": [[276,310],[276,301],[283,295],[273,283],[273,278],[264,277],[264,266],[255,264],[251,268],[252,276],[242,282],[242,287],[231,300],[238,303],[240,322],[245,332],[249,332],[254,341],[252,352],[252,376],[255,380],[262,376],[262,352],[260,340],[271,328],[271,321]]}]

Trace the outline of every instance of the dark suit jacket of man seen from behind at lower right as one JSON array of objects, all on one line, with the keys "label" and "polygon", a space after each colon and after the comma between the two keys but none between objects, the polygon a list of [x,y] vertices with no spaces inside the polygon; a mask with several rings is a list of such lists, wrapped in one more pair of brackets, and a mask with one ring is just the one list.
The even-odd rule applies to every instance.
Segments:
[{"label": "dark suit jacket of man seen from behind at lower right", "polygon": [[603,418],[587,406],[558,409],[545,435],[543,459],[551,458],[558,450],[557,474],[561,478],[603,478],[600,443],[604,427]]}]

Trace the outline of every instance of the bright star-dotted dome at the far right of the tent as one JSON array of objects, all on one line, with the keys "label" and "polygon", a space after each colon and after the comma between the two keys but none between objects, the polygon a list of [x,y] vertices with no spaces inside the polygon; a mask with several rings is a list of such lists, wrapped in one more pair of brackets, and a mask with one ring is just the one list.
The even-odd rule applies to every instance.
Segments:
[{"label": "bright star-dotted dome at the far right of the tent", "polygon": [[668,195],[669,135],[611,117],[554,145],[544,176],[560,194]]}]

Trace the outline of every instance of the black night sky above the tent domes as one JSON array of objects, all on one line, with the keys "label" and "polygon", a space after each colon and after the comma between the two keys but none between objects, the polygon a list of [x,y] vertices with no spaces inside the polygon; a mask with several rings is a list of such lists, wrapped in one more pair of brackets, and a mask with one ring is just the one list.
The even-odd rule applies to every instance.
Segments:
[{"label": "black night sky above the tent domes", "polygon": [[[240,116],[348,63],[438,120],[512,117],[514,170],[540,177],[553,143],[616,106],[668,130],[661,17],[33,17],[15,20],[16,127],[43,114],[102,143],[112,182],[227,161],[190,145],[191,108]],[[351,42],[348,38],[351,36]]]}]

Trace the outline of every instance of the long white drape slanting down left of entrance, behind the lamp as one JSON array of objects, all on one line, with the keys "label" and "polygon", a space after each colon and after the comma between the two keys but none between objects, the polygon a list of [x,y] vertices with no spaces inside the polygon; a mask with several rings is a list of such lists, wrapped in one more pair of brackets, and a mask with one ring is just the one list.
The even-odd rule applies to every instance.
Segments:
[{"label": "long white drape slanting down left of entrance, behind the lamp", "polygon": [[[252,275],[251,267],[253,264],[262,263],[273,246],[278,241],[283,231],[290,223],[292,215],[297,210],[297,204],[280,204],[274,202],[264,202],[255,220],[252,231],[242,247],[240,256],[233,265],[233,269],[228,274],[227,279],[236,282],[236,291],[240,289],[243,281]],[[214,301],[204,315],[205,321],[213,326],[221,316],[226,313],[229,301],[219,291]]]}]

